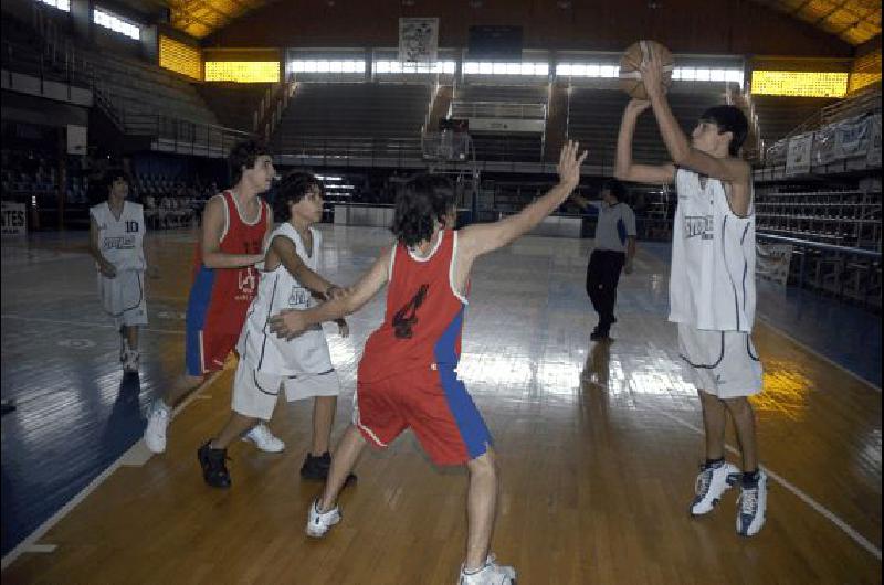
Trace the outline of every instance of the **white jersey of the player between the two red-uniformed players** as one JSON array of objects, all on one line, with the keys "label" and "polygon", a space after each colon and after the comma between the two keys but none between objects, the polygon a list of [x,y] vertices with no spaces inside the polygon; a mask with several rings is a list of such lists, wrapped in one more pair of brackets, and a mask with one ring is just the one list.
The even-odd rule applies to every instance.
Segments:
[{"label": "white jersey of the player between the two red-uniformed players", "polygon": [[[288,222],[273,231],[267,243],[276,236],[290,238],[295,244],[302,262],[316,272],[320,265],[323,236],[311,228],[313,254],[307,254],[301,235]],[[266,251],[265,251],[266,254]],[[292,340],[272,333],[267,319],[283,309],[305,310],[316,305],[311,291],[280,263],[273,270],[262,270],[257,296],[249,307],[236,351],[255,370],[277,375],[318,374],[334,370],[328,343],[322,326],[315,326]]]}]

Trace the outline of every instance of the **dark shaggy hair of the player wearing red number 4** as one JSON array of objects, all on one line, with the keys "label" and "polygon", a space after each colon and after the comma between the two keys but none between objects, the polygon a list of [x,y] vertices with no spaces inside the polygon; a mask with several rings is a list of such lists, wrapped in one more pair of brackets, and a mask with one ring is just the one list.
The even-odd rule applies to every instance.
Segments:
[{"label": "dark shaggy hair of the player wearing red number 4", "polygon": [[430,240],[435,223],[456,204],[454,184],[439,174],[418,174],[406,182],[396,195],[393,224],[399,242],[414,246]]}]

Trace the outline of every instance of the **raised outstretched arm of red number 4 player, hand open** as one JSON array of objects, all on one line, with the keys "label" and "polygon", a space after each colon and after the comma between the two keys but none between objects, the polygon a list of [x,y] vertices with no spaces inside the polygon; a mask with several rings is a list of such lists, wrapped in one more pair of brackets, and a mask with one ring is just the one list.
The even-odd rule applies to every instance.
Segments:
[{"label": "raised outstretched arm of red number 4 player, hand open", "polygon": [[474,224],[460,230],[457,246],[460,259],[474,258],[501,248],[540,223],[552,213],[580,182],[580,164],[587,153],[578,156],[578,142],[568,140],[559,156],[559,183],[544,196],[527,205],[515,215],[495,223]]}]

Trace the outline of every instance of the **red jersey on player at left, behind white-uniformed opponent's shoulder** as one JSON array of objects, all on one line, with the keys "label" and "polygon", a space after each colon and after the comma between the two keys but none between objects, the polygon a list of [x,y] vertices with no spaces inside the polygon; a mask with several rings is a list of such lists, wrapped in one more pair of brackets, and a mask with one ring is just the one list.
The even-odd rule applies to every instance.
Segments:
[{"label": "red jersey on player at left, behind white-uniformed opponent's shoulder", "polygon": [[[227,228],[221,235],[223,254],[261,254],[267,233],[267,204],[259,199],[260,211],[253,223],[246,223],[231,191],[224,191]],[[242,329],[245,312],[257,291],[257,270],[241,268],[208,268],[202,263],[202,246],[197,243],[193,287],[190,301],[206,306],[204,320],[194,323],[200,330],[235,332]]]}]

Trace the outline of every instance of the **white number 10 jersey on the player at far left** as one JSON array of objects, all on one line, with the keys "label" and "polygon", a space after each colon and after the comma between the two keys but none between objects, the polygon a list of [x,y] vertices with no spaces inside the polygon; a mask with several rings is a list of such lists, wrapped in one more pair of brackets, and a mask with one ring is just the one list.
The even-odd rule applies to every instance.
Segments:
[{"label": "white number 10 jersey on the player at far left", "polygon": [[145,212],[139,203],[123,202],[119,219],[107,202],[90,209],[98,226],[98,249],[117,270],[144,270]]}]

